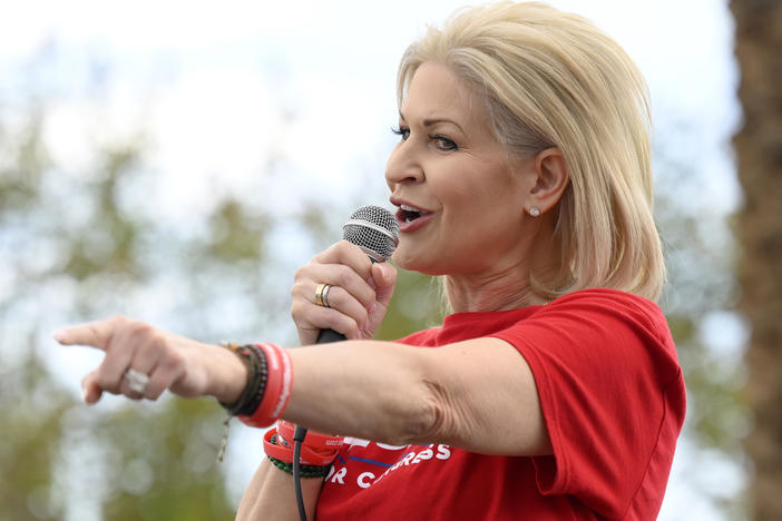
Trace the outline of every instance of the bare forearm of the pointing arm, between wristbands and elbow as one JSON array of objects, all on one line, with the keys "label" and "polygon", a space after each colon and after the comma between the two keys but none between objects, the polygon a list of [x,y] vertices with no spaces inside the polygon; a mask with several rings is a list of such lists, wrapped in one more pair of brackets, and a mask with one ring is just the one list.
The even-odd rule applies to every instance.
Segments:
[{"label": "bare forearm of the pointing arm, between wristbands and elbow", "polygon": [[284,417],[320,432],[417,441],[434,422],[419,353],[375,341],[291,350],[294,383]]}]

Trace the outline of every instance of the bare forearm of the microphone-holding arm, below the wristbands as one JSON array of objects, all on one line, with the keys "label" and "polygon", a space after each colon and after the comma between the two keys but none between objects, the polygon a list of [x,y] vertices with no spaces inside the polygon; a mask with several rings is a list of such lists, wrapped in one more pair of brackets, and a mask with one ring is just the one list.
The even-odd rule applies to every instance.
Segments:
[{"label": "bare forearm of the microphone-holding arm, below the wristbands", "polygon": [[[315,503],[322,485],[322,479],[302,479],[302,497],[307,519],[314,519]],[[293,476],[264,459],[242,497],[236,520],[287,521],[297,519],[299,509],[293,489]]]}]

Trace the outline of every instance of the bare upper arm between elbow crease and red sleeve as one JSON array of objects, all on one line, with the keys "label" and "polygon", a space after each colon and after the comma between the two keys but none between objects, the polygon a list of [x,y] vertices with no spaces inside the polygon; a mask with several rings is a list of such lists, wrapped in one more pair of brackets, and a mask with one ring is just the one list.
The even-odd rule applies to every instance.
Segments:
[{"label": "bare upper arm between elbow crease and red sleeve", "polygon": [[419,355],[436,419],[426,441],[483,454],[551,453],[532,371],[511,344],[482,337]]}]

